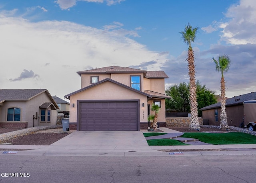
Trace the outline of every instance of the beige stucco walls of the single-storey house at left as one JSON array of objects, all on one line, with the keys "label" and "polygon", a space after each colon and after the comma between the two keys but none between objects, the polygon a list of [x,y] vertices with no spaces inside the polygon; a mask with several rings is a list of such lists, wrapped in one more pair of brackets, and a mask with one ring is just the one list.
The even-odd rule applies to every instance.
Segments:
[{"label": "beige stucco walls of the single-storey house at left", "polygon": [[7,110],[8,108],[17,107],[21,109],[20,120],[22,122],[28,122],[28,127],[34,126],[44,126],[44,125],[56,125],[57,112],[56,110],[51,110],[51,121],[48,123],[40,123],[40,118],[33,119],[33,115],[36,115],[36,112],[40,115],[39,106],[44,102],[52,102],[46,92],[28,100],[28,101],[7,101],[4,102],[4,106],[0,107],[0,122],[7,121]]}]

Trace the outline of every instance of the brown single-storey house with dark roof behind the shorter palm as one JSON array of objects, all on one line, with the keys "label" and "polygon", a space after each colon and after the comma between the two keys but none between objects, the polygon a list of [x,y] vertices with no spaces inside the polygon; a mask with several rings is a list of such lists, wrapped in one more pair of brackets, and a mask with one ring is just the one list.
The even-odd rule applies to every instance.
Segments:
[{"label": "brown single-storey house with dark roof behind the shorter palm", "polygon": [[[226,113],[229,126],[240,126],[244,117],[244,105],[246,100],[256,100],[256,92],[234,96],[226,100]],[[221,103],[212,104],[201,108],[204,122],[209,125],[220,125]]]}]

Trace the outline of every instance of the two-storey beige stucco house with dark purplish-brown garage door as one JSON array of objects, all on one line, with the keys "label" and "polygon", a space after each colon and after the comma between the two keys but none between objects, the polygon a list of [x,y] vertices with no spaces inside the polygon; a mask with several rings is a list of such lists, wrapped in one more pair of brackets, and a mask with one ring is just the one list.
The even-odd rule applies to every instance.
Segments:
[{"label": "two-storey beige stucco house with dark purplish-brown garage door", "polygon": [[[148,128],[152,103],[165,125],[164,71],[110,66],[77,72],[81,88],[67,94],[70,125],[78,131],[131,131]],[[77,126],[76,126],[77,125]]]}]

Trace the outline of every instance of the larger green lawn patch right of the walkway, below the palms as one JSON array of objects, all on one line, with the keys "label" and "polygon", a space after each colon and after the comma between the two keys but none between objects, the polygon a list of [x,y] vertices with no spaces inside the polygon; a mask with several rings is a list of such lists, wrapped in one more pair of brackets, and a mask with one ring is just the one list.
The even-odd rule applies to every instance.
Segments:
[{"label": "larger green lawn patch right of the walkway, below the palms", "polygon": [[242,132],[229,132],[220,134],[211,133],[184,133],[181,137],[197,138],[208,144],[256,144],[256,136]]}]

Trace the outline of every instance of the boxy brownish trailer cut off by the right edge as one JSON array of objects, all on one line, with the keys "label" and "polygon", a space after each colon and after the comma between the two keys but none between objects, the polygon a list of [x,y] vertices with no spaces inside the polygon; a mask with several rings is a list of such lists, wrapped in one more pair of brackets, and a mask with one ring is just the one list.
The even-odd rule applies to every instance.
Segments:
[{"label": "boxy brownish trailer cut off by the right edge", "polygon": [[244,101],[244,128],[256,131],[256,100]]}]

